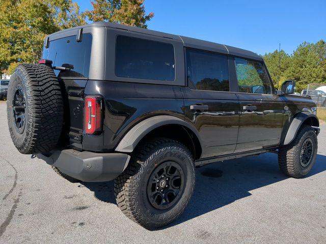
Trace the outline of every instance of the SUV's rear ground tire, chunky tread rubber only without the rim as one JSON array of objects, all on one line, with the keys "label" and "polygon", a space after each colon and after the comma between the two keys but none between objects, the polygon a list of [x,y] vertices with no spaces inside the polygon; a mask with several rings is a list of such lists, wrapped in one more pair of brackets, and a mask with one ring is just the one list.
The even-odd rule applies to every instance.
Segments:
[{"label": "SUV's rear ground tire, chunky tread rubber only without the rim", "polygon": [[[178,201],[168,209],[154,208],[147,197],[147,182],[155,169],[166,161],[176,161],[185,175],[185,186]],[[128,167],[115,179],[115,197],[121,211],[147,229],[168,225],[185,209],[195,187],[195,165],[189,149],[178,141],[153,138],[134,151]]]}]

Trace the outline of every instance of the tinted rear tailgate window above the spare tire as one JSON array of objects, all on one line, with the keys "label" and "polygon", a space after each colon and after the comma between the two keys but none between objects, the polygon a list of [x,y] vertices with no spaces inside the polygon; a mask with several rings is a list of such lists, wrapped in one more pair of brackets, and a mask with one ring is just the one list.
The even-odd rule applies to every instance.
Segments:
[{"label": "tinted rear tailgate window above the spare tire", "polygon": [[73,65],[72,70],[55,70],[60,77],[88,77],[90,70],[92,35],[83,34],[81,42],[76,36],[50,41],[49,48],[43,49],[42,58],[52,60],[52,66]]}]

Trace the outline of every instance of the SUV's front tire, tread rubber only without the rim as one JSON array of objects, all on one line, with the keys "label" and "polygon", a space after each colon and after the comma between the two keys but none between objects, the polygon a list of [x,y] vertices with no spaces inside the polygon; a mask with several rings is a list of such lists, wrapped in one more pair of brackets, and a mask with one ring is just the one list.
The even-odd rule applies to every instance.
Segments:
[{"label": "SUV's front tire, tread rubber only without the rim", "polygon": [[[301,148],[304,141],[310,138],[313,144],[312,161],[306,167],[300,163]],[[315,164],[317,155],[317,135],[314,129],[304,125],[297,132],[294,140],[289,144],[282,146],[279,149],[279,166],[283,173],[290,177],[302,178],[307,175]]]}]

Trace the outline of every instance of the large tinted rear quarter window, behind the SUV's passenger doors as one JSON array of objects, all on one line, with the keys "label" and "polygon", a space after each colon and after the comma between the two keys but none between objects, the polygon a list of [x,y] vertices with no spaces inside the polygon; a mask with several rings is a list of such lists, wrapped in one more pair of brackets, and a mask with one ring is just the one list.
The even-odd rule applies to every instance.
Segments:
[{"label": "large tinted rear quarter window, behind the SUV's passenger doors", "polygon": [[119,77],[174,81],[173,45],[118,36],[115,73]]}]

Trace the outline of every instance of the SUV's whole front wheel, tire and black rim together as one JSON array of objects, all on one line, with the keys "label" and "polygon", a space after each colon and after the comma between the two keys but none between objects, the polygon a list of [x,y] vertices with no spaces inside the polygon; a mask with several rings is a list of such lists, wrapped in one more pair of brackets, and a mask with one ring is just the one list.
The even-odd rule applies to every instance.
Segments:
[{"label": "SUV's whole front wheel, tire and black rim together", "polygon": [[310,126],[303,126],[290,145],[279,149],[280,169],[288,176],[302,178],[315,164],[317,135]]}]

